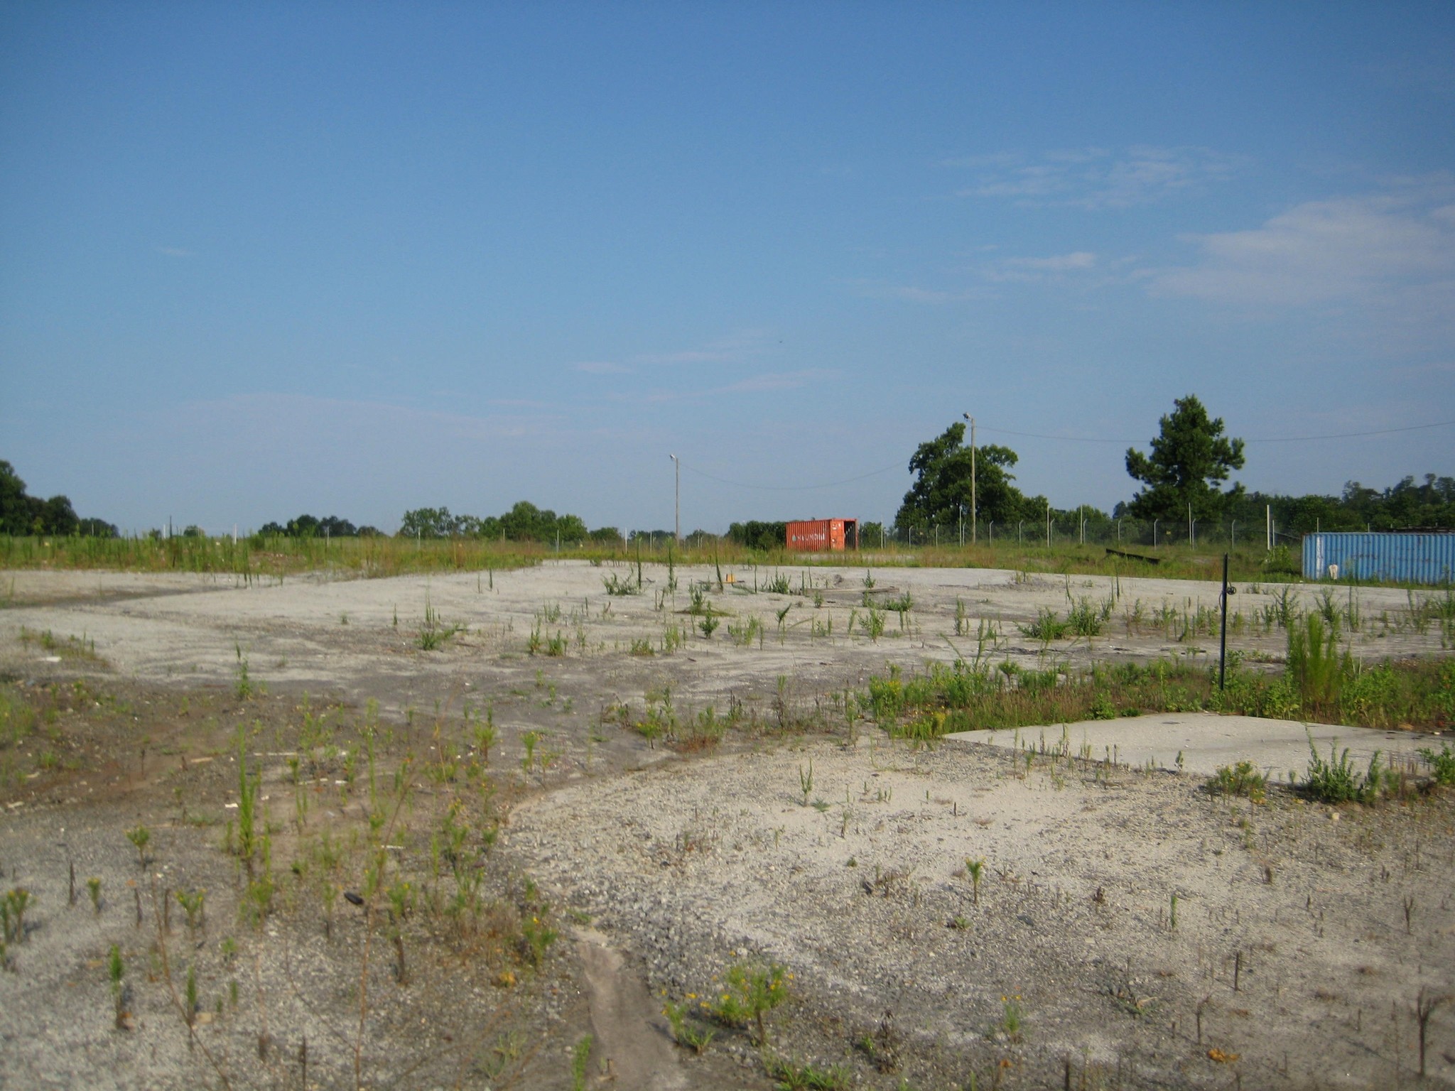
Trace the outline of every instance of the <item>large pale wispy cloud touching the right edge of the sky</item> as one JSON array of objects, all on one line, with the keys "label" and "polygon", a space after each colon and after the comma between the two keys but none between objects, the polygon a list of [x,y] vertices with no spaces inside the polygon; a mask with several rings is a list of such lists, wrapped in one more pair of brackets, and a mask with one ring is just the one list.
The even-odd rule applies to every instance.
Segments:
[{"label": "large pale wispy cloud touching the right edge of the sky", "polygon": [[1218,303],[1356,303],[1435,308],[1455,319],[1455,179],[1310,201],[1261,227],[1184,236],[1195,265],[1152,275],[1158,295]]}]

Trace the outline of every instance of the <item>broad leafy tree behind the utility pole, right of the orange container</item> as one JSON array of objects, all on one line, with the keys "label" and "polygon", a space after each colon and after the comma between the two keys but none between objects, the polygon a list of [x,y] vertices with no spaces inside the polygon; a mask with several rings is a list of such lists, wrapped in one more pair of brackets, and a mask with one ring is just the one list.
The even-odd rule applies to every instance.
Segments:
[{"label": "broad leafy tree behind the utility pole, right of the orange container", "polygon": [[[1010,467],[1018,457],[1008,447],[988,444],[975,448],[975,509],[982,521],[1011,522],[1021,515],[1026,497],[1011,481]],[[922,528],[970,522],[970,448],[965,445],[965,425],[956,422],[927,444],[920,444],[909,460],[917,474],[905,493],[895,527]]]}]

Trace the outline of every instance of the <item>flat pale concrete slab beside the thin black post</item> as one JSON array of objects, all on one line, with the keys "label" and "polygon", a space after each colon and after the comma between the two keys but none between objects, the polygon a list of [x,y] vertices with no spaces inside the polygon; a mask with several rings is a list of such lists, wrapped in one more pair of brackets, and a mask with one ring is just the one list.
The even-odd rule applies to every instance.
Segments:
[{"label": "flat pale concrete slab beside the thin black post", "polygon": [[1302,780],[1308,772],[1308,739],[1314,738],[1320,756],[1327,756],[1334,743],[1342,754],[1349,748],[1349,759],[1363,771],[1369,758],[1379,751],[1385,761],[1408,759],[1420,762],[1417,751],[1424,746],[1440,749],[1449,733],[1384,732],[1374,727],[1340,727],[1326,723],[1304,724],[1296,720],[1260,720],[1256,716],[1218,716],[1216,713],[1158,713],[1122,720],[1084,720],[1053,727],[1021,727],[1018,732],[954,732],[949,742],[979,742],[992,746],[1027,746],[1040,749],[1061,743],[1062,733],[1071,754],[1101,759],[1115,752],[1123,765],[1147,765],[1176,770],[1177,755],[1183,770],[1211,777],[1219,765],[1251,761],[1270,780],[1286,781],[1289,774]]}]

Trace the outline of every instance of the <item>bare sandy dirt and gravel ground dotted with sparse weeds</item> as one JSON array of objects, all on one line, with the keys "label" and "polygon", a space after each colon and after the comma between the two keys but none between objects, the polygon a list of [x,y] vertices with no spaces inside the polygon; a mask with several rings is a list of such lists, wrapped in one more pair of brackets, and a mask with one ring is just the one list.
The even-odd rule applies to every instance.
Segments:
[{"label": "bare sandy dirt and gravel ground dotted with sparse weeds", "polygon": [[[1423,1078],[1416,1018],[1422,989],[1455,994],[1448,793],[1254,806],[1192,772],[912,751],[844,714],[888,663],[1215,660],[1216,585],[876,569],[873,596],[914,607],[870,640],[850,631],[864,569],[723,575],[739,589],[647,566],[639,594],[608,595],[637,572],[585,563],[0,573],[25,722],[0,739],[0,889],[33,898],[0,973],[0,1085],[1455,1082],[1455,1007],[1426,1021]],[[793,594],[751,592],[776,575]],[[711,639],[687,612],[701,582]],[[1256,618],[1283,594],[1315,605],[1240,585],[1229,647],[1276,660],[1283,633]],[[1440,652],[1406,592],[1353,596],[1358,655]],[[1020,633],[1083,598],[1115,599],[1109,636]],[[665,701],[735,726],[674,751],[631,729]],[[1165,746],[1138,727],[1157,755],[1196,755],[1186,724]],[[239,729],[271,832],[252,882],[226,850]],[[198,889],[191,927],[176,892]],[[739,962],[793,975],[767,1042],[704,1014],[700,1055],[672,1044],[663,1004],[701,1011]]]}]

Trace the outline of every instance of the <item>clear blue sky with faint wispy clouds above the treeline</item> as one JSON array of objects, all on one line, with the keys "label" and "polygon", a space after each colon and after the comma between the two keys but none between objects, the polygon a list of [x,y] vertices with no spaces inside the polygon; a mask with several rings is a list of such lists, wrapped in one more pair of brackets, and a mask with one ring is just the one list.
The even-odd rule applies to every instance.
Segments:
[{"label": "clear blue sky with faint wispy clouds above the treeline", "polygon": [[962,412],[1110,508],[1187,393],[1455,473],[1349,436],[1455,420],[1455,6],[0,7],[0,458],[122,528],[889,518]]}]

